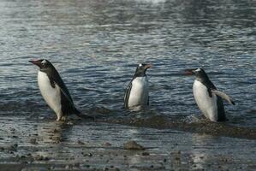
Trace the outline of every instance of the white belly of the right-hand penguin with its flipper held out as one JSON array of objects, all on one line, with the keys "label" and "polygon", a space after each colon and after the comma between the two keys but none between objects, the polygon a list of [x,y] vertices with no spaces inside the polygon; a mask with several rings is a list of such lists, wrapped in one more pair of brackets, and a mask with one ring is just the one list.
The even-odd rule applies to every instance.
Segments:
[{"label": "white belly of the right-hand penguin with its flipper held out", "polygon": [[212,97],[209,96],[208,90],[198,80],[193,83],[193,97],[195,102],[199,106],[201,112],[206,118],[211,121],[217,121],[217,97],[211,93]]}]

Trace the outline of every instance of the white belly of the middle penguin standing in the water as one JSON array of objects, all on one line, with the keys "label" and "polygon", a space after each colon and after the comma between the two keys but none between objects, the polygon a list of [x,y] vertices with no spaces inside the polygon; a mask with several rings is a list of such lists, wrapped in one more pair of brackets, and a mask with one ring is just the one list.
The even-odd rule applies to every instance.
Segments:
[{"label": "white belly of the middle penguin standing in the water", "polygon": [[146,77],[137,77],[132,82],[128,107],[145,105],[148,101],[148,81]]}]

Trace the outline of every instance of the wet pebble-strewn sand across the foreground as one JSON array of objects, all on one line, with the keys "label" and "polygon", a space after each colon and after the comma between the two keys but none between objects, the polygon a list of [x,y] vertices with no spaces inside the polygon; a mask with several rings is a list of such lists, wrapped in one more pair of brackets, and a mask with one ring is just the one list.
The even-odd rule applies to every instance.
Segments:
[{"label": "wet pebble-strewn sand across the foreground", "polygon": [[[3,117],[1,170],[255,170],[256,141],[121,124]],[[145,149],[129,150],[134,140]]]}]

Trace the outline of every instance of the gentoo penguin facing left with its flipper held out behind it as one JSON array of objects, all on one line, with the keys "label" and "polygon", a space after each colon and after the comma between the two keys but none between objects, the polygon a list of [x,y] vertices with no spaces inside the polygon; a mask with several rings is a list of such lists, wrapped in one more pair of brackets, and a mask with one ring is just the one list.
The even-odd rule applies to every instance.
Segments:
[{"label": "gentoo penguin facing left with its flipper held out behind it", "polygon": [[186,73],[194,74],[196,77],[193,82],[193,97],[205,117],[215,122],[227,121],[223,99],[235,105],[233,100],[224,92],[217,91],[216,86],[209,80],[204,69],[187,69]]}]

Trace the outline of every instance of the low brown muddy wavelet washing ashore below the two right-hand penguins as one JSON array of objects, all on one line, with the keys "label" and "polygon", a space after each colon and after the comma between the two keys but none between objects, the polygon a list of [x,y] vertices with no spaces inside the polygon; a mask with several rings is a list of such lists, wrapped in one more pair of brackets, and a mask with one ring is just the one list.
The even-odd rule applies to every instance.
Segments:
[{"label": "low brown muddy wavelet washing ashore below the two right-hand penguins", "polygon": [[173,129],[188,133],[201,133],[217,137],[256,139],[256,129],[251,127],[238,127],[228,122],[211,122],[202,120],[188,123],[186,121],[172,121],[164,117],[157,116],[150,119],[131,119],[106,121],[108,123],[124,124],[132,127],[149,127],[155,129]]}]

